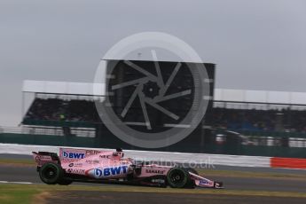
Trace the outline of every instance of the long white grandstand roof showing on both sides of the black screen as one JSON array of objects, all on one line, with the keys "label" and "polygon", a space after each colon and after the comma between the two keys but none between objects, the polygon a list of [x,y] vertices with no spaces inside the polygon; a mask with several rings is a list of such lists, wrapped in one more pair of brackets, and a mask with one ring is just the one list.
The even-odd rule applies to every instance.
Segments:
[{"label": "long white grandstand roof showing on both sides of the black screen", "polygon": [[[22,91],[34,93],[105,96],[106,84],[26,80],[23,82]],[[214,100],[248,103],[253,102],[306,105],[306,93],[268,90],[215,89]]]}]

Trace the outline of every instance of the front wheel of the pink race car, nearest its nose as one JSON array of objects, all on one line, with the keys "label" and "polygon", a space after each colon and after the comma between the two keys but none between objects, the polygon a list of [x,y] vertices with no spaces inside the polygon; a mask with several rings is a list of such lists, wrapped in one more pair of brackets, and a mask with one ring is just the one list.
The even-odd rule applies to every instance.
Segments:
[{"label": "front wheel of the pink race car, nearest its nose", "polygon": [[167,174],[167,183],[172,188],[184,188],[187,187],[191,178],[188,173],[183,168],[172,168]]}]

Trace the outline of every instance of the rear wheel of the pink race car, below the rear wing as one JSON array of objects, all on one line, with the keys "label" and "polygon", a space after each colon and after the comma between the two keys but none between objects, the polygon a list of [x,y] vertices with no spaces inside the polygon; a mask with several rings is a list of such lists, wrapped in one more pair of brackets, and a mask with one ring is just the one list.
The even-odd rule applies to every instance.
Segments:
[{"label": "rear wheel of the pink race car, below the rear wing", "polygon": [[62,181],[63,169],[57,163],[45,163],[39,169],[39,177],[45,184],[57,184]]}]

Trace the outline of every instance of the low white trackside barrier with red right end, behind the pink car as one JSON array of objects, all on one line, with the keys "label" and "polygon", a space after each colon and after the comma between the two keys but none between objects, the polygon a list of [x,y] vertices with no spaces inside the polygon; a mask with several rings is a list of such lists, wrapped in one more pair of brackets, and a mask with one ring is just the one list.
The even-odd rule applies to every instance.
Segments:
[{"label": "low white trackside barrier with red right end, behind the pink car", "polygon": [[[30,155],[32,152],[52,152],[59,153],[60,147],[68,146],[48,146],[48,145],[18,145],[0,144],[0,153]],[[77,148],[77,147],[73,147]],[[80,147],[80,149],[84,149]],[[109,151],[113,149],[90,148],[93,150]],[[240,156],[208,153],[168,153],[125,150],[125,157],[131,157],[139,161],[170,161],[175,163],[190,163],[194,165],[224,165],[234,167],[264,167],[264,168],[287,168],[306,169],[306,159],[277,158],[261,156]]]}]

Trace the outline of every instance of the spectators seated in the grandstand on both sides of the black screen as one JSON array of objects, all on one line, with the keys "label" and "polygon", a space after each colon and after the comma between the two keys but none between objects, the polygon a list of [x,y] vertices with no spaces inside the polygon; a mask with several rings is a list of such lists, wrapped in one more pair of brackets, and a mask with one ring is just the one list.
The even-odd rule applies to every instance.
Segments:
[{"label": "spectators seated in the grandstand on both sides of the black screen", "polygon": [[[92,100],[35,98],[27,120],[101,122]],[[215,107],[206,121],[221,129],[306,132],[306,110],[231,109]]]}]

